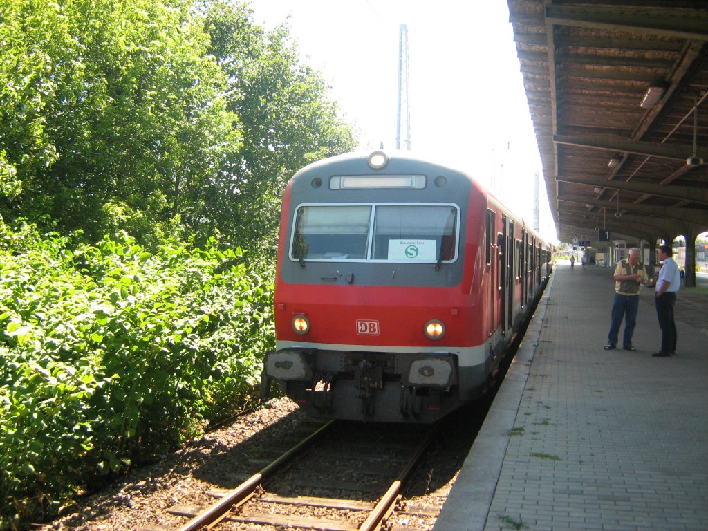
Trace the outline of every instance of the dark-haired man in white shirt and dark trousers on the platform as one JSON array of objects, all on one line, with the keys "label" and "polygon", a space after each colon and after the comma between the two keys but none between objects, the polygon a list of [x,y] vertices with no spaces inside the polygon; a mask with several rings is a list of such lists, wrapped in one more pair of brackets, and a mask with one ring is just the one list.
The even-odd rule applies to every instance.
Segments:
[{"label": "dark-haired man in white shirt and dark trousers on the platform", "polygon": [[659,260],[663,262],[656,279],[656,316],[661,329],[661,350],[652,355],[655,358],[668,358],[676,353],[676,323],[673,318],[673,306],[676,303],[676,292],[681,287],[681,273],[673,260],[673,249],[670,245],[660,245],[657,249]]}]

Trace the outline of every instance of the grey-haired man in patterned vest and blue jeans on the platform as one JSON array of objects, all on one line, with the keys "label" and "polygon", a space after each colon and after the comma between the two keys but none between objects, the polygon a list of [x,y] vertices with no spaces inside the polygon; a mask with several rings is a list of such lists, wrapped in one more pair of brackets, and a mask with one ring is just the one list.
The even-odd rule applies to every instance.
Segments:
[{"label": "grey-haired man in patterned vest and blue jeans on the platform", "polygon": [[639,290],[641,285],[649,280],[644,264],[639,263],[640,255],[639,248],[632,247],[629,249],[627,259],[620,260],[615,266],[615,300],[612,302],[610,314],[612,321],[610,332],[607,333],[605,350],[617,348],[619,327],[622,326],[622,319],[625,318],[622,348],[636,350],[632,346],[632,335],[636,326],[636,312],[639,310]]}]

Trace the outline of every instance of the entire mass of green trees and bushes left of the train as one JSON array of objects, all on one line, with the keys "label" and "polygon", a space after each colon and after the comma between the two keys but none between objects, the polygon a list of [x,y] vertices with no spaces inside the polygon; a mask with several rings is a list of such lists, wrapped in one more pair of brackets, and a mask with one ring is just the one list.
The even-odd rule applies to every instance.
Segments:
[{"label": "entire mass of green trees and bushes left of the train", "polygon": [[3,527],[242,403],[282,189],[355,142],[246,4],[3,0],[0,21]]}]

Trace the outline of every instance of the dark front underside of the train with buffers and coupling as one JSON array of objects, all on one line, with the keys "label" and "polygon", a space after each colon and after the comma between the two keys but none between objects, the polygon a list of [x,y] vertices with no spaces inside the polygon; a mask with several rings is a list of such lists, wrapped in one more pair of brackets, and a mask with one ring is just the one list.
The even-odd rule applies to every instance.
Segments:
[{"label": "dark front underside of the train with buffers and coupling", "polygon": [[[286,348],[266,355],[261,393],[267,396],[276,380],[316,418],[433,423],[471,398],[459,395],[460,376],[457,355],[450,353]],[[479,387],[481,394],[484,378]]]}]

